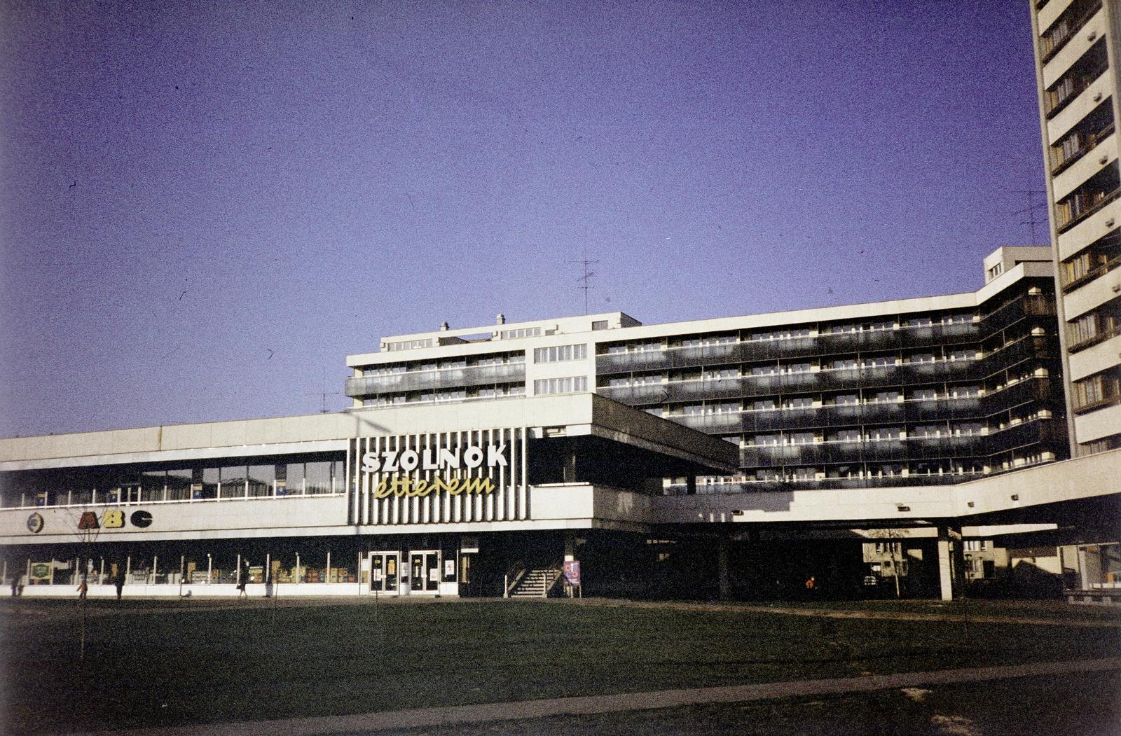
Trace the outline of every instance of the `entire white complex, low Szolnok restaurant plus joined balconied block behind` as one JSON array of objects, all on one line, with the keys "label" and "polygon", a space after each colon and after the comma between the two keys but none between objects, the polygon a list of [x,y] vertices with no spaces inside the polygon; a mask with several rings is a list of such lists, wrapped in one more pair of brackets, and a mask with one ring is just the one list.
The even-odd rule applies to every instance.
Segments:
[{"label": "entire white complex, low Szolnok restaurant plus joined balconied block behind", "polygon": [[[35,595],[546,595],[580,562],[590,593],[948,598],[969,540],[1113,541],[1121,495],[1121,449],[1057,462],[1049,250],[984,265],[941,297],[444,325],[348,357],[344,412],[2,439],[0,572]],[[1096,595],[1114,550],[1032,551],[1019,577]]]}]

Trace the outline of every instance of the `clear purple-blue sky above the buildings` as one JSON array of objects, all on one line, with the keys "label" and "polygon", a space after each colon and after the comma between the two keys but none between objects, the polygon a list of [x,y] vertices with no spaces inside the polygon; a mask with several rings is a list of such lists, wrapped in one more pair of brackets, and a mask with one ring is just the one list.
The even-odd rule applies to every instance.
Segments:
[{"label": "clear purple-blue sky above the buildings", "polygon": [[1026,0],[0,9],[3,436],[314,413],[585,254],[647,324],[972,291],[1044,187]]}]

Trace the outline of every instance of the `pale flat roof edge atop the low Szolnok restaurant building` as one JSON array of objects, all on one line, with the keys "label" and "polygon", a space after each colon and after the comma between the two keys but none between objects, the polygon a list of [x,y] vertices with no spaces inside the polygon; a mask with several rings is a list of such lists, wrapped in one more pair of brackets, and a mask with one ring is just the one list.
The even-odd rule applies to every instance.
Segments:
[{"label": "pale flat roof edge atop the low Szolnok restaurant building", "polygon": [[341,451],[355,437],[534,428],[591,435],[734,473],[739,447],[594,393],[405,404],[337,413],[0,439],[0,471]]}]

